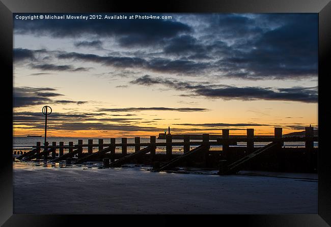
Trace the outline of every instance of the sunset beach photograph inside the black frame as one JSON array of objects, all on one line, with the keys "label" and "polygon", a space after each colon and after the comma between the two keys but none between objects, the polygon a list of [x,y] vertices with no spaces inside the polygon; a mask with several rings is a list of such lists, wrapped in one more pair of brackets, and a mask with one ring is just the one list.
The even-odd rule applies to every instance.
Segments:
[{"label": "sunset beach photograph inside the black frame", "polygon": [[13,93],[14,213],[317,213],[318,14],[14,13]]}]

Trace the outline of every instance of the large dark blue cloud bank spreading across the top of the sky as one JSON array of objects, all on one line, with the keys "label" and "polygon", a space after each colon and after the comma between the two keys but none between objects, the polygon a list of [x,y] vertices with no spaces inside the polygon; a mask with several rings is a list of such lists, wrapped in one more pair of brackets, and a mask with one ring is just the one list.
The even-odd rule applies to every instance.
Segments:
[{"label": "large dark blue cloud bank spreading across the top of the sky", "polygon": [[[14,34],[90,38],[74,44],[94,48],[101,48],[101,40],[111,37],[113,41],[114,38],[115,45],[125,48],[112,52],[114,56],[76,52],[56,56],[60,60],[95,62],[122,70],[139,68],[180,75],[218,75],[221,79],[317,77],[317,14],[187,14],[185,17],[197,18],[197,23],[187,25],[176,21],[184,21],[183,17],[173,20],[14,20]],[[14,60],[33,60],[36,53],[18,48],[14,50]],[[37,64],[41,70],[87,70],[42,64]]]}]

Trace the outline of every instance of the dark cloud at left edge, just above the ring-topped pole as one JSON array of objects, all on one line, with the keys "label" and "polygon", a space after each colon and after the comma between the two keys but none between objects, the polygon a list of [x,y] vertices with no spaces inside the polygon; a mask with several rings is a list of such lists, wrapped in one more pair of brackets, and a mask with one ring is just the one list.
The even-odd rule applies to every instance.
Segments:
[{"label": "dark cloud at left edge, just above the ring-topped pole", "polygon": [[13,106],[14,107],[27,107],[35,105],[47,104],[84,104],[84,101],[69,101],[69,100],[54,100],[63,94],[52,92],[56,91],[54,88],[49,87],[15,87]]}]

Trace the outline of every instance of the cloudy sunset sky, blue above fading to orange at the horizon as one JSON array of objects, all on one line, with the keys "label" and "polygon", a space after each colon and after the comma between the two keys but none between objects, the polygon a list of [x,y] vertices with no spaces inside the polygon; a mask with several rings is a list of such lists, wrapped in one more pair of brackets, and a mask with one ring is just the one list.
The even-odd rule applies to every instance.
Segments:
[{"label": "cloudy sunset sky, blue above fading to orange at the horizon", "polygon": [[318,128],[318,14],[45,15],[13,14],[14,136]]}]

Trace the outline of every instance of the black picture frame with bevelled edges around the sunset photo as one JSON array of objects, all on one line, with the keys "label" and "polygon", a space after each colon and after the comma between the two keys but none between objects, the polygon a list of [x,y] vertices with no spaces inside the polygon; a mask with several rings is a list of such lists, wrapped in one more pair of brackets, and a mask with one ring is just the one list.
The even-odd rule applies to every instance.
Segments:
[{"label": "black picture frame with bevelled edges around the sunset photo", "polygon": [[[13,13],[82,13],[82,12],[163,12],[163,13],[318,13],[319,14],[319,132],[328,127],[327,102],[321,92],[331,75],[327,59],[331,53],[331,3],[328,0],[168,0],[168,1],[88,1],[88,0],[0,0],[0,56],[3,64],[2,131],[4,149],[1,154],[0,224],[3,226],[70,226],[108,224],[216,224],[238,223],[249,226],[328,226],[331,225],[330,152],[325,135],[319,133],[318,213],[317,214],[241,214],[241,215],[27,215],[13,214],[12,124],[13,103],[10,99],[13,83],[12,68]],[[5,73],[6,72],[6,73]],[[6,78],[8,80],[6,80]],[[6,81],[6,82],[5,82]],[[327,98],[326,98],[327,99]],[[12,119],[12,118],[11,118]],[[326,130],[325,130],[326,131]],[[323,139],[324,138],[324,139]],[[324,150],[323,150],[324,149]],[[266,201],[267,202],[267,201]],[[121,223],[122,222],[122,223]]]}]

